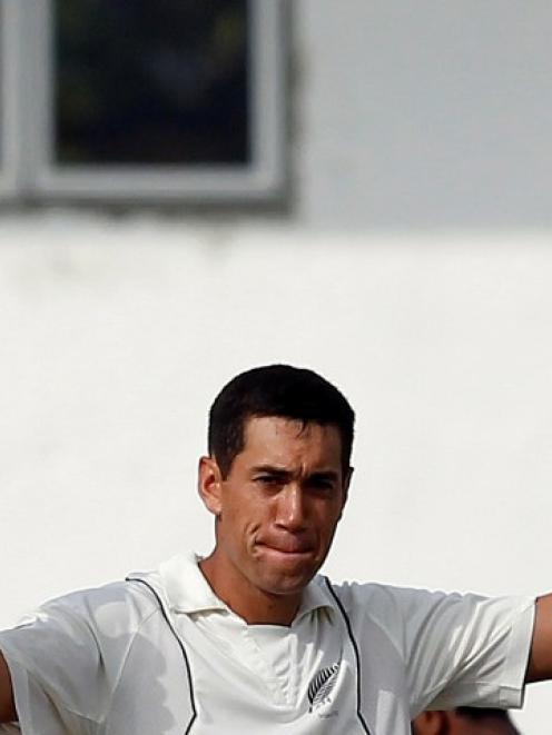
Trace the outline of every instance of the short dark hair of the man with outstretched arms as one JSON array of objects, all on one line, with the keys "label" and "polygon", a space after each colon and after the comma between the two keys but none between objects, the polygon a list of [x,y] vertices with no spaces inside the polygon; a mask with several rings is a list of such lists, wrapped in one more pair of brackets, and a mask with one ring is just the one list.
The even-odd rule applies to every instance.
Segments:
[{"label": "short dark hair of the man with outstretched arms", "polygon": [[353,447],[355,413],[347,399],[314,370],[266,365],[241,373],[218,394],[209,411],[208,449],[226,477],[245,446],[244,428],[254,417],[279,416],[335,426],[342,441],[344,474]]}]

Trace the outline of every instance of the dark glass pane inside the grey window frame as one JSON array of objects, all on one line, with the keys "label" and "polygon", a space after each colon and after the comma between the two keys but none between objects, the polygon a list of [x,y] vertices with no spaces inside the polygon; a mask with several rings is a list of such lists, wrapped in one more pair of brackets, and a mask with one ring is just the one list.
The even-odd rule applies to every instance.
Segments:
[{"label": "dark glass pane inside the grey window frame", "polygon": [[247,0],[55,0],[60,165],[249,161]]}]

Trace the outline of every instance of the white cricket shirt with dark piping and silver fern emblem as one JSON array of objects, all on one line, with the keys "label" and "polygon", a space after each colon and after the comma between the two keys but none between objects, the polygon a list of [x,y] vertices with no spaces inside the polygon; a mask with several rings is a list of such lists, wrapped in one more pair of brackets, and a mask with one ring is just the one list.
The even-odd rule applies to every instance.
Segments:
[{"label": "white cricket shirt with dark piping and silver fern emblem", "polygon": [[23,735],[410,735],[420,711],[518,707],[534,600],[317,576],[289,627],[247,625],[194,555],[0,633]]}]

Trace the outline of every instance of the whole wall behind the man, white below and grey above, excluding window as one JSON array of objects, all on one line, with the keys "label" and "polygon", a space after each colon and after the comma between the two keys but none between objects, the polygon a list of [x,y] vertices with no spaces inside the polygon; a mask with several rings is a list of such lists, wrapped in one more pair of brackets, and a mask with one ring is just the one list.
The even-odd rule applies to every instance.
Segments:
[{"label": "whole wall behind the man, white below and grey above, excluding window", "polygon": [[[552,584],[552,10],[294,14],[288,219],[0,220],[2,626],[207,550],[207,407],[276,360],[318,369],[358,411],[331,574]],[[550,688],[534,692],[520,722],[546,735]]]}]

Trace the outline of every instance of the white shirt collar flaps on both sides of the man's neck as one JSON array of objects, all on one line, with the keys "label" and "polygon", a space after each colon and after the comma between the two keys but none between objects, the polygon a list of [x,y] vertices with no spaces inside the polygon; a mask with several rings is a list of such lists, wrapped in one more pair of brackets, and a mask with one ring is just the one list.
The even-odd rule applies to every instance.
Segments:
[{"label": "white shirt collar flaps on both sides of the man's neck", "polygon": [[[229,607],[210,588],[199,569],[201,557],[194,553],[179,554],[159,566],[159,576],[170,608],[176,613],[206,613]],[[335,609],[336,603],[328,592],[325,578],[317,575],[305,587],[295,622],[318,608]]]}]

